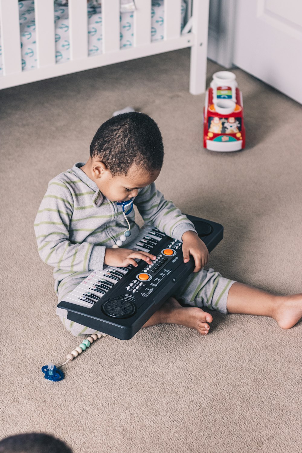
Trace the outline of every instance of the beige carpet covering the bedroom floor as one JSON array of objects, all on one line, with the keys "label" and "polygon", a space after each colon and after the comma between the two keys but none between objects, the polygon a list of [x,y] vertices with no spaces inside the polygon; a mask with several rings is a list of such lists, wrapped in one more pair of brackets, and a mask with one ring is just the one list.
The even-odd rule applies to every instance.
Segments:
[{"label": "beige carpet covering the bedroom floor", "polygon": [[[208,84],[219,70],[208,62]],[[301,291],[301,106],[240,69],[247,147],[202,147],[204,95],[188,92],[187,49],[0,92],[1,438],[39,431],[82,452],[301,452],[302,323],[213,313],[211,333],[177,325],[79,344],[55,314],[34,218],[48,181],[86,161],[92,136],[127,105],[162,130],[157,182],[182,209],[225,226],[210,265],[278,294]]]}]

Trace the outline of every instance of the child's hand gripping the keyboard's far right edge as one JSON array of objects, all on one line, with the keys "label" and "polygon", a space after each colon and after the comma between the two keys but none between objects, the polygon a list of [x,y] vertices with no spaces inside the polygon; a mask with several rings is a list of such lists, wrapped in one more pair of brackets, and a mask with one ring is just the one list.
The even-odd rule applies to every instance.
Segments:
[{"label": "child's hand gripping the keyboard's far right edge", "polygon": [[183,261],[187,263],[190,259],[190,255],[194,257],[195,269],[194,272],[198,272],[201,268],[206,265],[209,260],[209,251],[206,248],[206,244],[201,241],[194,231],[186,231],[182,235],[182,253]]}]

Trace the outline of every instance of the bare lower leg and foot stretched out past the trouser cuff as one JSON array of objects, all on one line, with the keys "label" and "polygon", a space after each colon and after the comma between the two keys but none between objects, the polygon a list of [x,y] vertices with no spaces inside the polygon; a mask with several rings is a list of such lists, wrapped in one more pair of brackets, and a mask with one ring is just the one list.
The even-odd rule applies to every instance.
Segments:
[{"label": "bare lower leg and foot stretched out past the trouser cuff", "polygon": [[275,319],[283,329],[290,329],[302,317],[302,294],[275,296],[236,282],[227,299],[228,313],[255,314]]}]

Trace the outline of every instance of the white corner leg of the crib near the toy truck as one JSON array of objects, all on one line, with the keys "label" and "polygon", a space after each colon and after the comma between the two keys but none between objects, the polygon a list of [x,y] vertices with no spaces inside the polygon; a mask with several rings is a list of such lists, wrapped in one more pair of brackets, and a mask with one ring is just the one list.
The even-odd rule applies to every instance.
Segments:
[{"label": "white corner leg of the crib near the toy truck", "polygon": [[190,93],[206,91],[206,57],[208,47],[209,0],[193,0],[192,33],[195,44],[191,48]]}]

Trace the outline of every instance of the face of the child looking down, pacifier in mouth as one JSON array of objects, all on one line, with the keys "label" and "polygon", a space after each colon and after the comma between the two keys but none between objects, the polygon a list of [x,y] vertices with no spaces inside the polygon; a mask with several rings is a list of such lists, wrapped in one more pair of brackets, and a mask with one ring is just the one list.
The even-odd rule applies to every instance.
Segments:
[{"label": "face of the child looking down, pacifier in mouth", "polygon": [[[139,193],[139,188],[146,187],[153,183],[158,177],[160,170],[154,171],[152,174],[145,169],[132,165],[125,175],[112,176],[109,169],[102,163],[98,162],[94,168],[94,174],[97,174],[95,182],[101,193],[110,201],[121,202],[136,197]],[[97,173],[98,172],[98,173]]]}]

